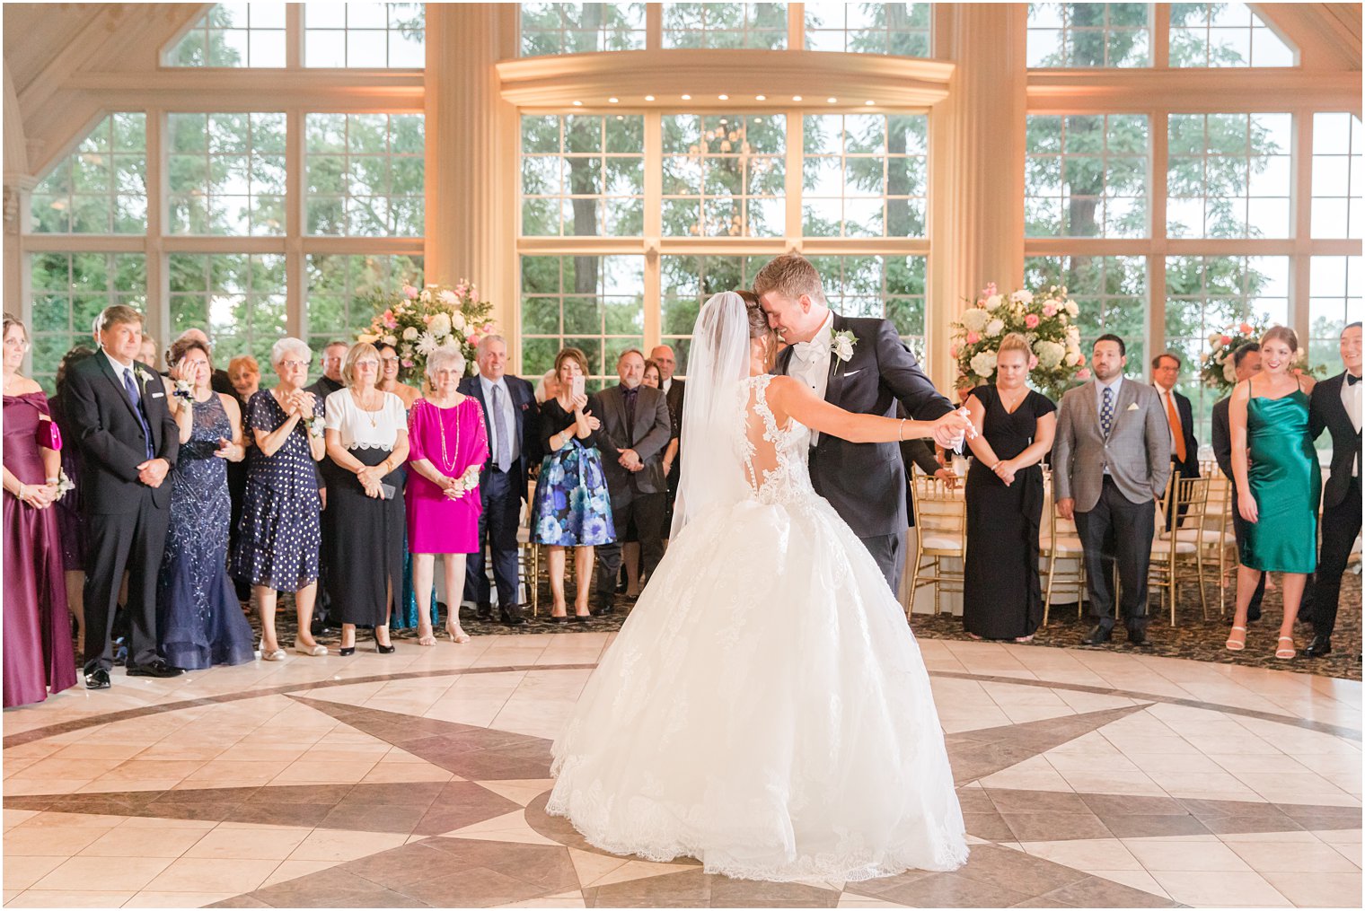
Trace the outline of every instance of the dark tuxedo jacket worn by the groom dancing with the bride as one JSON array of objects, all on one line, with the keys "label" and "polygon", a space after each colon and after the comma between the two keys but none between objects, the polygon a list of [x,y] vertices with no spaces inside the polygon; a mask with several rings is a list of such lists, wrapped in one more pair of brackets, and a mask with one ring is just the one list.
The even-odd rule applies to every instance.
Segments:
[{"label": "dark tuxedo jacket worn by the groom dancing with the bride", "polygon": [[[830,356],[824,401],[861,415],[895,417],[895,402],[915,420],[935,420],[953,410],[934,389],[915,355],[886,319],[834,315],[834,331],[856,340],[848,363]],[[778,355],[786,374],[792,346]],[[850,443],[829,434],[811,451],[811,483],[830,501],[859,537],[900,535],[910,525],[905,509],[905,462],[895,443]]]}]

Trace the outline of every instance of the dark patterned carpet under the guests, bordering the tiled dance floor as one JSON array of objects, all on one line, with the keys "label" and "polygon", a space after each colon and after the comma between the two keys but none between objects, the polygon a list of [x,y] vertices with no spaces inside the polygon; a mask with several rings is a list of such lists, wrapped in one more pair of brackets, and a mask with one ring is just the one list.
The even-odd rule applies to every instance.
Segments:
[{"label": "dark patterned carpet under the guests, bordering the tiled dance floor", "polygon": [[[1354,567],[1353,567],[1354,569]],[[1246,651],[1239,653],[1228,652],[1223,648],[1227,640],[1230,616],[1233,612],[1231,592],[1228,592],[1227,615],[1219,618],[1215,606],[1209,606],[1211,618],[1204,619],[1197,600],[1192,592],[1182,592],[1182,603],[1175,611],[1175,626],[1170,626],[1170,615],[1153,618],[1148,627],[1148,637],[1152,645],[1141,649],[1144,655],[1162,657],[1185,657],[1197,661],[1215,661],[1219,664],[1239,664],[1244,667],[1265,667],[1282,671],[1295,671],[1299,674],[1320,674],[1324,676],[1338,676],[1351,681],[1361,679],[1361,577],[1354,571],[1347,571],[1342,580],[1340,612],[1336,618],[1336,631],[1332,636],[1334,652],[1321,659],[1305,659],[1302,655],[1291,661],[1282,661],[1274,656],[1275,637],[1278,636],[1282,606],[1279,589],[1265,592],[1264,619],[1252,623],[1248,630]],[[293,610],[289,596],[280,599],[278,634],[280,642],[288,645],[293,641]],[[1193,603],[1190,603],[1193,601]],[[460,623],[471,636],[491,634],[528,634],[528,633],[557,633],[573,634],[581,631],[617,630],[629,615],[632,600],[624,596],[617,597],[616,614],[607,616],[594,616],[587,623],[557,625],[549,621],[550,592],[542,586],[541,615],[531,618],[527,608],[528,622],[521,626],[504,626],[500,622],[482,622],[475,618],[474,611],[465,606],[460,611]],[[444,610],[442,610],[444,615]],[[258,626],[257,616],[251,616],[253,626]],[[962,631],[960,618],[949,614],[916,614],[910,619],[915,634],[921,638],[938,640],[965,640],[969,638]],[[1033,644],[1054,648],[1103,648],[1129,649],[1122,630],[1117,630],[1115,641],[1103,646],[1081,645],[1081,638],[1091,630],[1093,622],[1089,616],[1077,618],[1074,604],[1054,604],[1048,625],[1040,627],[1033,637]],[[1297,630],[1297,644],[1299,651],[1312,641],[1313,630],[1306,623],[1299,623]],[[416,638],[415,629],[396,629],[393,640],[403,645]],[[325,645],[336,645],[340,641],[337,630],[328,630],[318,637]],[[356,638],[362,649],[373,648],[370,634],[362,631]]]}]

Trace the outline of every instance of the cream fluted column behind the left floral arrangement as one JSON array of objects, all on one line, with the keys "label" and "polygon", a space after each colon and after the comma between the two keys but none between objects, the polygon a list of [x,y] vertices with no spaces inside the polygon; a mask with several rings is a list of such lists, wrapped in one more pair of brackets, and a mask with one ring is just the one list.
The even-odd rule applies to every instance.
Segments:
[{"label": "cream fluted column behind the left floral arrangement", "polygon": [[[426,280],[468,278],[515,333],[516,113],[494,64],[516,18],[493,3],[433,3],[426,19]],[[512,35],[515,38],[515,35]]]}]

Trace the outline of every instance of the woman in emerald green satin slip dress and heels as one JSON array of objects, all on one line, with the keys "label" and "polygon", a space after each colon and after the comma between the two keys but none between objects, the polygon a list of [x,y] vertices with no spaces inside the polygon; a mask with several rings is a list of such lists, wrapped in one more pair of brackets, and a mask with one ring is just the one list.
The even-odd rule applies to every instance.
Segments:
[{"label": "woman in emerald green satin slip dress and heels", "polygon": [[1261,372],[1237,385],[1228,405],[1237,503],[1248,521],[1237,569],[1230,652],[1246,648],[1246,608],[1261,573],[1283,573],[1284,618],[1275,657],[1291,659],[1304,585],[1317,567],[1323,477],[1308,435],[1313,379],[1293,372],[1298,337],[1275,326],[1261,337]]}]

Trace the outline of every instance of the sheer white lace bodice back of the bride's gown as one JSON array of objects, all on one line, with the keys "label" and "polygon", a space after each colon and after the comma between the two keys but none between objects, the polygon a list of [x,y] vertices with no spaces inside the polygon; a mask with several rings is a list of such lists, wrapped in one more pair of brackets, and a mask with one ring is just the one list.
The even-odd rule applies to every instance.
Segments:
[{"label": "sheer white lace bodice back of the bride's gown", "polygon": [[815,496],[807,458],[811,430],[789,417],[786,427],[767,404],[768,375],[744,380],[743,412],[744,473],[760,503],[793,503]]}]

